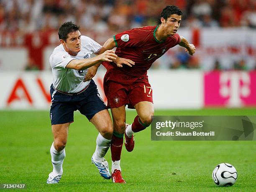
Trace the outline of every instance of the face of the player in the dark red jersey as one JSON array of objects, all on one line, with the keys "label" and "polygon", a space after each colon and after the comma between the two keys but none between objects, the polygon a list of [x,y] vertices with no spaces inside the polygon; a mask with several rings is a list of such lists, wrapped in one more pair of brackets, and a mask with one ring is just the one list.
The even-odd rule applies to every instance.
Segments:
[{"label": "face of the player in the dark red jersey", "polygon": [[170,15],[167,20],[161,18],[161,25],[164,27],[164,32],[167,36],[174,35],[179,29],[179,25],[181,23],[181,15],[173,14]]}]

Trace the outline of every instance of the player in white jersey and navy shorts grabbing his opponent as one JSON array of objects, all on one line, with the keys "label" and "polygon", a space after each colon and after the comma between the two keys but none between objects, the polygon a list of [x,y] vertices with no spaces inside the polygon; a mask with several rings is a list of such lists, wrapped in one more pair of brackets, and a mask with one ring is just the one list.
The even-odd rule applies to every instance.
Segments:
[{"label": "player in white jersey and navy shorts grabbing his opponent", "polygon": [[[61,179],[68,129],[74,121],[76,110],[85,115],[99,131],[91,160],[100,175],[110,179],[108,162],[104,156],[110,147],[113,124],[94,81],[83,80],[87,68],[100,65],[102,61],[115,61],[117,56],[113,50],[101,50],[100,44],[87,36],[81,36],[79,26],[71,21],[61,25],[59,39],[61,44],[54,49],[49,60],[53,73],[50,118],[54,142],[50,149],[53,171],[47,183],[58,183]],[[97,56],[90,58],[92,53]]]}]

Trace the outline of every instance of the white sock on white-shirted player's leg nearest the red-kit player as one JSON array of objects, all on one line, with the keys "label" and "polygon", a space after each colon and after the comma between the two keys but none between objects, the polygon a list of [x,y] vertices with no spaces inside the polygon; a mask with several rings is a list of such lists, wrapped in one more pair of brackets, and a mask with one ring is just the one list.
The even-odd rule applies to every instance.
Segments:
[{"label": "white sock on white-shirted player's leg nearest the red-kit player", "polygon": [[96,139],[96,149],[93,155],[93,159],[98,162],[104,161],[104,156],[108,152],[108,148],[110,147],[111,139],[105,139],[100,133]]}]

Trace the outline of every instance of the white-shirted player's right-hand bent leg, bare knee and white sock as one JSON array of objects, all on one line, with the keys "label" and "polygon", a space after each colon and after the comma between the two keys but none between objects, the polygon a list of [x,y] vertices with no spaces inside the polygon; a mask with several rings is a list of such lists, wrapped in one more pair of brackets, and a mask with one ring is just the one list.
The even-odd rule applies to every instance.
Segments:
[{"label": "white-shirted player's right-hand bent leg, bare knee and white sock", "polygon": [[108,151],[110,146],[111,137],[113,134],[113,125],[108,113],[108,110],[102,110],[95,114],[92,119],[90,119],[92,124],[100,132],[96,139],[96,149],[94,153],[94,159],[96,161],[104,161],[104,156]]}]

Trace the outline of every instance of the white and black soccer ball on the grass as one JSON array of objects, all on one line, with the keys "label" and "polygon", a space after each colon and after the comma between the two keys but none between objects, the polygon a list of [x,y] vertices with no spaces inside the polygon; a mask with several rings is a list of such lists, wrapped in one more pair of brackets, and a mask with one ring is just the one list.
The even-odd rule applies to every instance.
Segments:
[{"label": "white and black soccer ball on the grass", "polygon": [[236,168],[228,163],[218,164],[212,172],[212,179],[218,186],[232,186],[237,179]]}]

